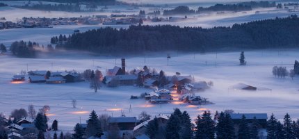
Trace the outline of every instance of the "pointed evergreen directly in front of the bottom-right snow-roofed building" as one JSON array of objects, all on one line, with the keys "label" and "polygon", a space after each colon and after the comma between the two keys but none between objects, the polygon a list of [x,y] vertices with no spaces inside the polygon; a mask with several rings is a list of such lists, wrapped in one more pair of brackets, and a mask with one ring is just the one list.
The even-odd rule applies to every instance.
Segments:
[{"label": "pointed evergreen directly in front of the bottom-right snow-roofed building", "polygon": [[246,120],[245,115],[242,115],[240,124],[239,124],[239,131],[238,131],[238,137],[239,139],[249,139],[249,128],[248,128],[248,122]]}]

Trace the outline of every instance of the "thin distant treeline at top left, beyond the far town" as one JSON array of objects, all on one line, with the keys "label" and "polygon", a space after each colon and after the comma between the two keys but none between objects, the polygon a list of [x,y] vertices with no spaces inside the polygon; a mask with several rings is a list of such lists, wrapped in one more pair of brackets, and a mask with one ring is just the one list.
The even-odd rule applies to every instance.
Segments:
[{"label": "thin distant treeline at top left, beyond the far town", "polygon": [[29,6],[28,4],[24,6],[15,6],[16,8],[24,8],[24,9],[30,9],[30,10],[56,10],[56,11],[67,11],[67,12],[81,12],[81,7],[78,3],[72,4],[72,3],[59,3],[59,4],[33,4],[32,6]]}]

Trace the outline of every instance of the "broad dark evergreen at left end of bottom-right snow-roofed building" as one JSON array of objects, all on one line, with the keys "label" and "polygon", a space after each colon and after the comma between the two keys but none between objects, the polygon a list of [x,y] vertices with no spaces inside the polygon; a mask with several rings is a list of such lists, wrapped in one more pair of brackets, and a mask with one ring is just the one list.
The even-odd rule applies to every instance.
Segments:
[{"label": "broad dark evergreen at left end of bottom-right snow-roofed building", "polygon": [[234,123],[228,113],[221,112],[216,126],[217,139],[234,139]]}]

